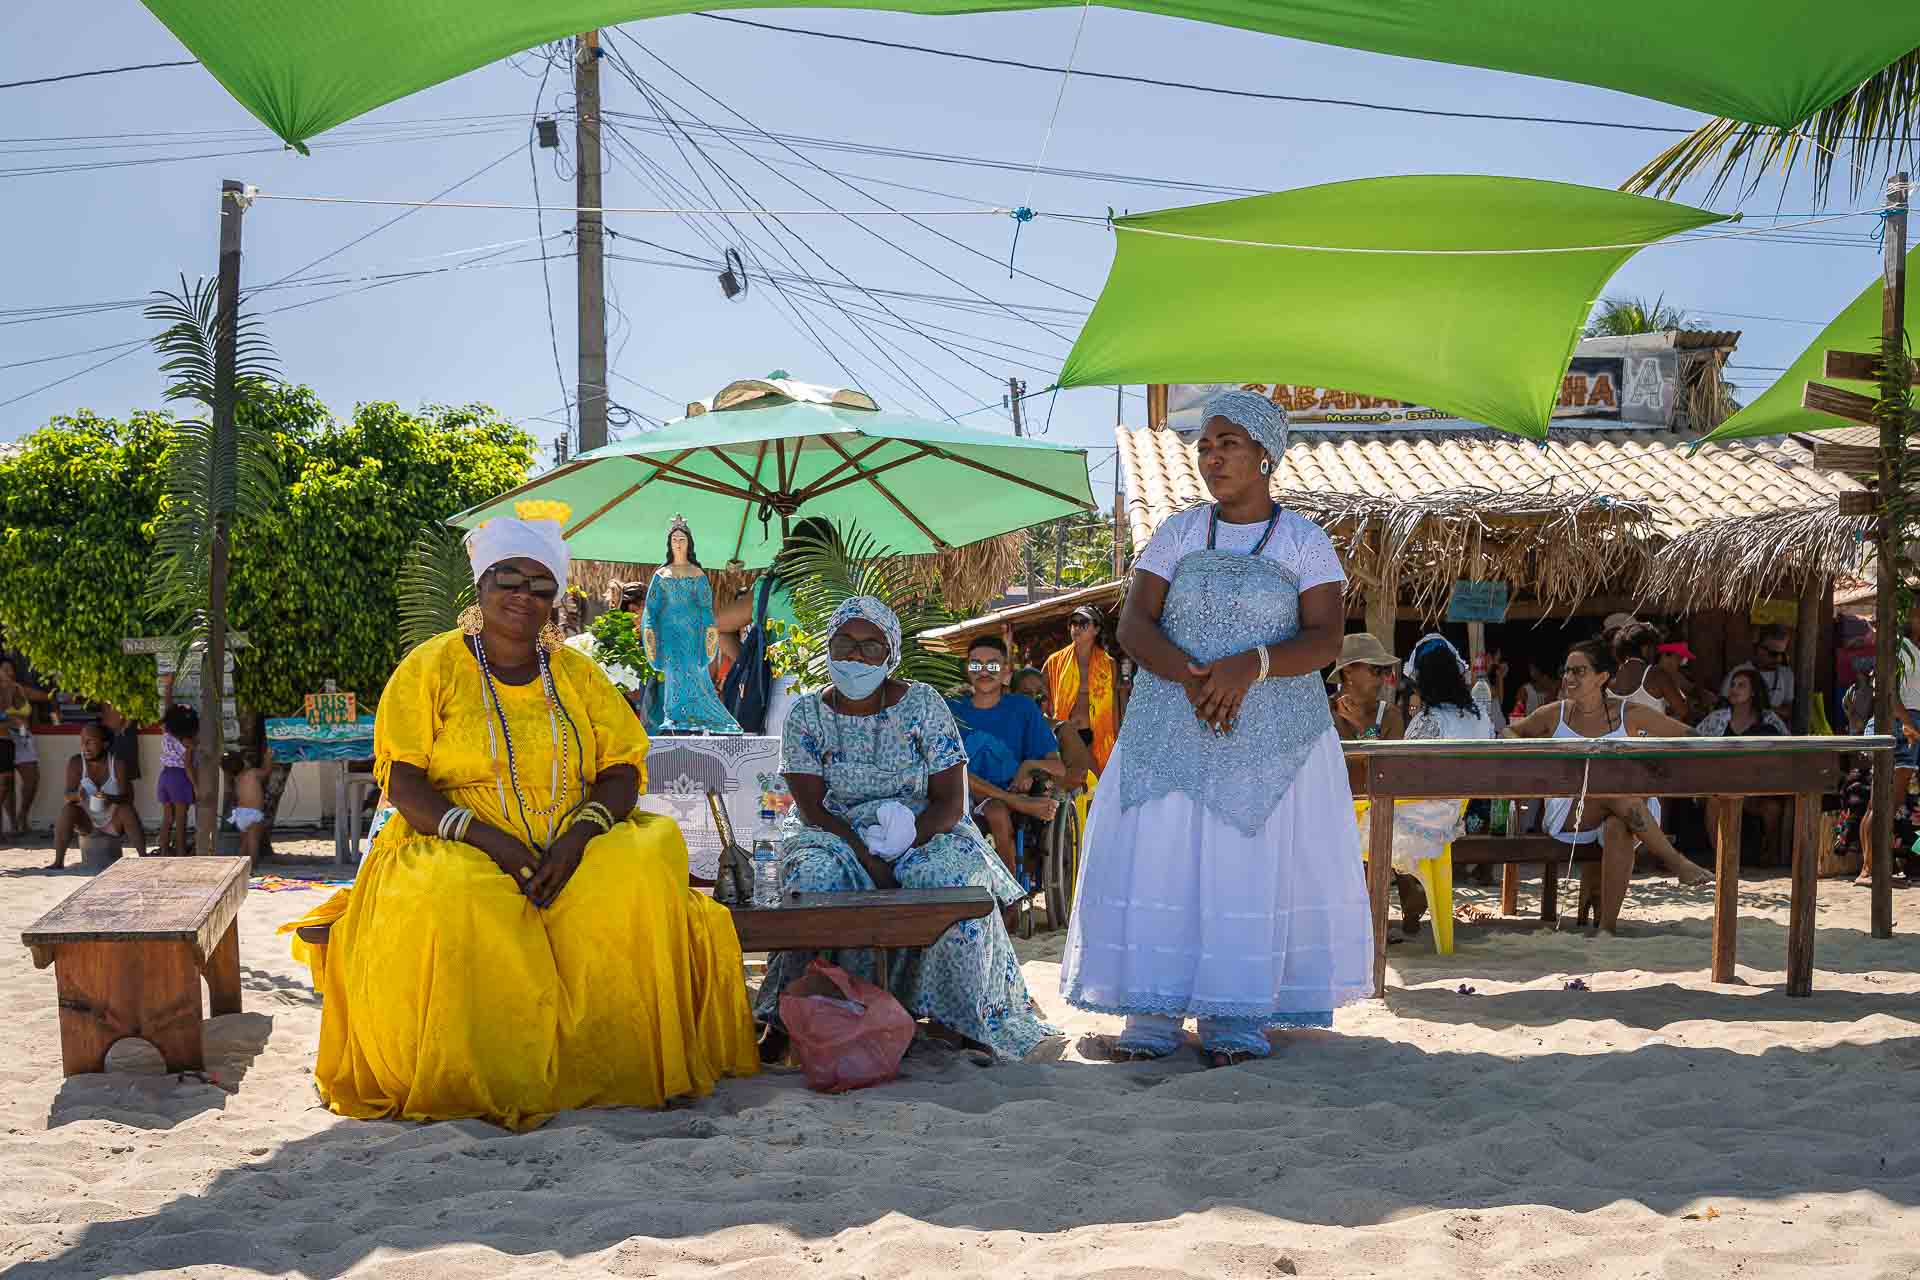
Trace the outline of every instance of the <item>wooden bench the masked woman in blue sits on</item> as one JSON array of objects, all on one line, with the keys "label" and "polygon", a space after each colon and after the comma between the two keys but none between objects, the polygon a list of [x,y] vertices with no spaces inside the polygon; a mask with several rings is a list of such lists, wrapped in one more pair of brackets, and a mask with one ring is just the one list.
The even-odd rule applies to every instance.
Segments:
[{"label": "wooden bench the masked woman in blue sits on", "polygon": [[[985,889],[881,889],[847,894],[789,894],[778,908],[732,908],[743,952],[831,952],[870,946],[879,952],[879,981],[887,981],[889,952],[931,946],[962,919],[995,910]],[[301,942],[324,946],[330,925],[298,929]]]}]

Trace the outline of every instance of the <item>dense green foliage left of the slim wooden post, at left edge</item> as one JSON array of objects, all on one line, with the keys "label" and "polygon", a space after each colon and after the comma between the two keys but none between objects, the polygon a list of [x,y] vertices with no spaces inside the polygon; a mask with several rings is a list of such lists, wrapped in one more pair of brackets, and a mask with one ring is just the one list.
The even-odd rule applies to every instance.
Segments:
[{"label": "dense green foliage left of the slim wooden post, at left edge", "polygon": [[175,422],[60,416],[0,457],[0,631],[63,689],[159,718],[154,658],[121,639],[148,633],[161,466]]}]

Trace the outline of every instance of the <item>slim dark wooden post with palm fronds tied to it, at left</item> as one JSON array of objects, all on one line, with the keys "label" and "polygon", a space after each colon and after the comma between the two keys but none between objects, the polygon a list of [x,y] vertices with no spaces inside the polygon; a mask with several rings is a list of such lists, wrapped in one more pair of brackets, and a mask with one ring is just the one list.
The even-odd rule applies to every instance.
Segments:
[{"label": "slim dark wooden post with palm fronds tied to it, at left", "polygon": [[[219,320],[213,328],[213,466],[234,453],[234,372],[240,342],[240,221],[246,182],[221,182]],[[207,564],[207,651],[200,666],[198,846],[215,852],[221,825],[221,758],[227,754],[227,551],[232,512],[213,493],[213,539]]]}]

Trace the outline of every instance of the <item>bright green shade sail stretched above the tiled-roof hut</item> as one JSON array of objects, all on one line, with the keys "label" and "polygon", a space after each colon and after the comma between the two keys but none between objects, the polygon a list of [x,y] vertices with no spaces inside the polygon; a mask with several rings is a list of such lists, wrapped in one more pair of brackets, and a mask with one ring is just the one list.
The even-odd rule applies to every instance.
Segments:
[{"label": "bright green shade sail stretched above the tiled-roof hut", "polygon": [[1607,278],[1638,246],[1724,217],[1565,182],[1405,177],[1116,219],[1114,271],[1060,386],[1281,380],[1546,438]]}]

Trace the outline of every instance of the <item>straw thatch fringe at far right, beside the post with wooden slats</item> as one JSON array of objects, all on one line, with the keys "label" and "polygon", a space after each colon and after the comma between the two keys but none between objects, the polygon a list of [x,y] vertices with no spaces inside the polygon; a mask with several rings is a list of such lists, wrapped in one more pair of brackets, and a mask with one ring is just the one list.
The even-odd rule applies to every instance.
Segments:
[{"label": "straw thatch fringe at far right, beside the post with wooden slats", "polygon": [[1709,520],[1680,533],[1647,562],[1640,595],[1655,606],[1745,610],[1755,601],[1799,595],[1809,574],[1864,576],[1872,516],[1834,507]]}]

